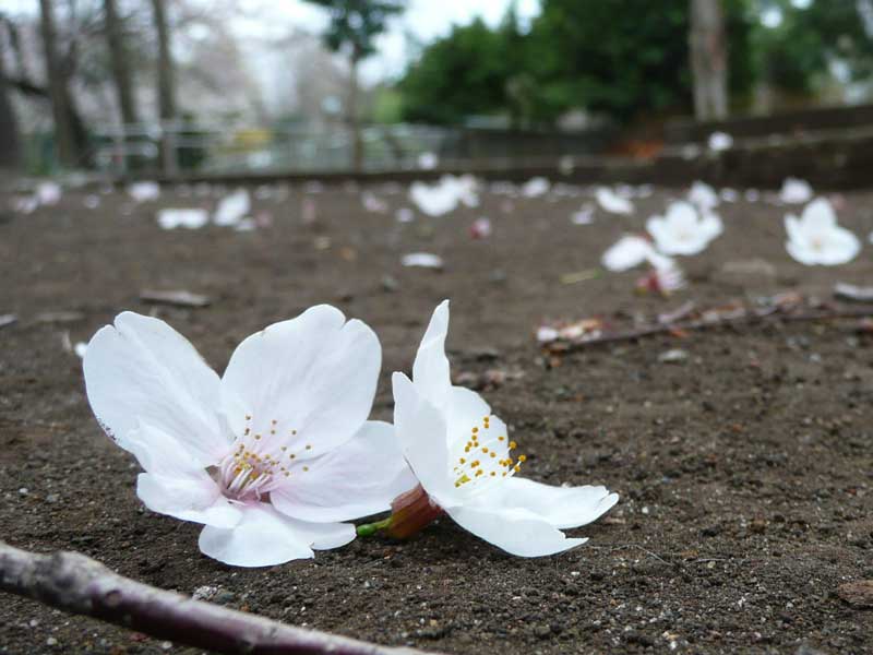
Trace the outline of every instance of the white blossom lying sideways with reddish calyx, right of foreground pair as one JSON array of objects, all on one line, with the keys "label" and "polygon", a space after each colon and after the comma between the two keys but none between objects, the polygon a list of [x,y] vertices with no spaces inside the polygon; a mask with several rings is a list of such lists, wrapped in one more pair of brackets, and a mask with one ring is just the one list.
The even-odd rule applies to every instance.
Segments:
[{"label": "white blossom lying sideways with reddish calyx, right of foreground pair", "polygon": [[453,386],[445,357],[449,302],[433,318],[412,365],[412,380],[394,373],[395,433],[419,486],[398,497],[392,516],[359,526],[404,538],[443,513],[461,527],[522,557],[584,544],[561,531],[598,519],[618,501],[603,487],[551,487],[518,477],[506,425],[482,397]]}]

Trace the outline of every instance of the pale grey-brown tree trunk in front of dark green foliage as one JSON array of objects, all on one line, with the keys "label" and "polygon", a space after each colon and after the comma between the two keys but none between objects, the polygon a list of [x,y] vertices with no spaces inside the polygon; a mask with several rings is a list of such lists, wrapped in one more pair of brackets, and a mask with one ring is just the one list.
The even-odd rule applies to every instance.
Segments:
[{"label": "pale grey-brown tree trunk in front of dark green foliage", "polygon": [[728,53],[719,0],[690,0],[689,50],[697,120],[728,116]]}]

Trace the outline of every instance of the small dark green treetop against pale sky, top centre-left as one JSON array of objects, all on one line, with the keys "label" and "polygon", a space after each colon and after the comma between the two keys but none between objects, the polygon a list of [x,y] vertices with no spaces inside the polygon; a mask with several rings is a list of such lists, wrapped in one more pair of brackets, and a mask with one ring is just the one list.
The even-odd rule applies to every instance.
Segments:
[{"label": "small dark green treetop against pale sky, top centre-left", "polygon": [[326,9],[331,24],[324,43],[334,51],[350,50],[357,61],[372,55],[373,39],[387,27],[388,19],[403,12],[404,0],[306,0]]}]

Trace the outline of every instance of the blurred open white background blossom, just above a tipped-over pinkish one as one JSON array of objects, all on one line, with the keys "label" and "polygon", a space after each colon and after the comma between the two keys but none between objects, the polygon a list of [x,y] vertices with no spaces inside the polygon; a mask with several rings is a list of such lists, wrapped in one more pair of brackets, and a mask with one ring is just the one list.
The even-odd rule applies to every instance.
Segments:
[{"label": "blurred open white background blossom, just above a tipped-over pinkish one", "polygon": [[651,216],[646,229],[655,245],[665,254],[697,254],[722,231],[721,218],[716,214],[697,212],[684,201],[671,202],[665,216]]}]

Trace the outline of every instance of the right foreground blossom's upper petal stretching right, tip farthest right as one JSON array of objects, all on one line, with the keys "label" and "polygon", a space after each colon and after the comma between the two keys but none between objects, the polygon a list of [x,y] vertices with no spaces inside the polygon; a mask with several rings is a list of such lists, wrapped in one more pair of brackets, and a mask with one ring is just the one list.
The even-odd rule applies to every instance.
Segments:
[{"label": "right foreground blossom's upper petal stretching right, tip farthest right", "polygon": [[[477,499],[479,500],[479,499]],[[482,495],[479,504],[533,512],[558,528],[591,523],[619,501],[606,487],[553,487],[514,476]]]}]

